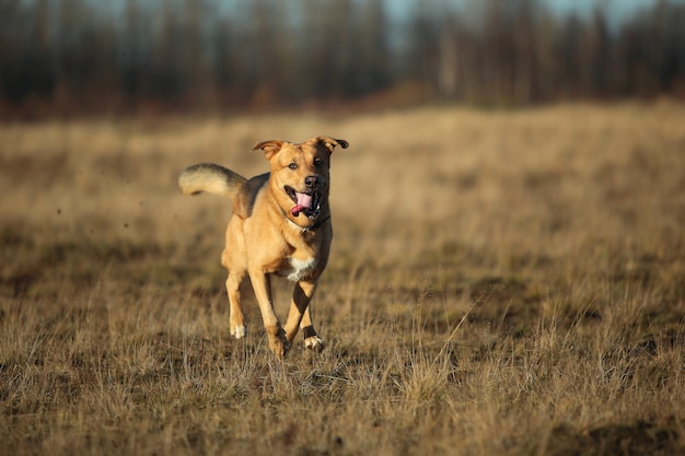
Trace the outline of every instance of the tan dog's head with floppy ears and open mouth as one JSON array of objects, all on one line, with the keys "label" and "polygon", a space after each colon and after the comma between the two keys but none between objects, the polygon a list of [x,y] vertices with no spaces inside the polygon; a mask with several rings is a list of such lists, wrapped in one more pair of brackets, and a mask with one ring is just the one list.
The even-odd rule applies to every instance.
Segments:
[{"label": "tan dog's head with floppy ears and open mouth", "polygon": [[271,165],[271,191],[283,210],[294,219],[300,214],[316,220],[327,210],[330,154],[336,145],[347,149],[347,141],[314,137],[295,144],[281,140],[264,141],[262,150]]}]

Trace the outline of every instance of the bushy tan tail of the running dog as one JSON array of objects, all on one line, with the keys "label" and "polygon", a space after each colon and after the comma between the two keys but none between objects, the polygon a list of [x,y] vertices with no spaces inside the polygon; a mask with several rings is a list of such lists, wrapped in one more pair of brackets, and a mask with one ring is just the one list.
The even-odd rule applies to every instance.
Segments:
[{"label": "bushy tan tail of the running dog", "polygon": [[199,163],[188,166],[178,175],[178,187],[184,195],[197,195],[202,191],[233,198],[246,179],[221,165]]}]

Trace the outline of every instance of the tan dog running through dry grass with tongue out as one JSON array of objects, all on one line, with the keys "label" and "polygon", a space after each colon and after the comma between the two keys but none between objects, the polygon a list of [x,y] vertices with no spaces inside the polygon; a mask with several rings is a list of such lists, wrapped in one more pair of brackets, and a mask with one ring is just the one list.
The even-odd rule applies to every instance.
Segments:
[{"label": "tan dog running through dry grass with tongue out", "polygon": [[[249,180],[212,163],[184,169],[178,185],[184,194],[201,191],[233,199],[233,214],[225,233],[221,264],[228,269],[225,285],[231,307],[231,334],[241,339],[247,327],[239,287],[249,276],[262,311],[269,349],[286,355],[298,329],[304,332],[304,346],[321,351],[309,304],[318,278],[326,268],[333,229],[328,207],[330,154],[347,141],[315,137],[300,144],[265,141],[262,150],[270,173]],[[285,329],[271,302],[270,274],[286,276],[297,282]]]}]

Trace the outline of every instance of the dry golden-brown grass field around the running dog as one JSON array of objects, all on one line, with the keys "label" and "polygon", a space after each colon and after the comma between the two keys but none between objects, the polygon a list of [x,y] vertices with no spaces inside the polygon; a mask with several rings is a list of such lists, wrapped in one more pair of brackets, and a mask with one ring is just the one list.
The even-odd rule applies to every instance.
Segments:
[{"label": "dry golden-brown grass field around the running dog", "polygon": [[[175,174],[320,133],[326,349],[281,362]],[[685,454],[683,105],[5,124],[0,195],[0,454]]]}]

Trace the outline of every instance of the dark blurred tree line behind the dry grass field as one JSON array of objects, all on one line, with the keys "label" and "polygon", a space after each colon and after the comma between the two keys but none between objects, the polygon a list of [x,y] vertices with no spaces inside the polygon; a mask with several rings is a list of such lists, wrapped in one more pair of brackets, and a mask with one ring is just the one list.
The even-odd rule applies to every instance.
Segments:
[{"label": "dark blurred tree line behind the dry grass field", "polygon": [[538,0],[0,0],[0,114],[685,94],[685,5],[614,24]]}]

